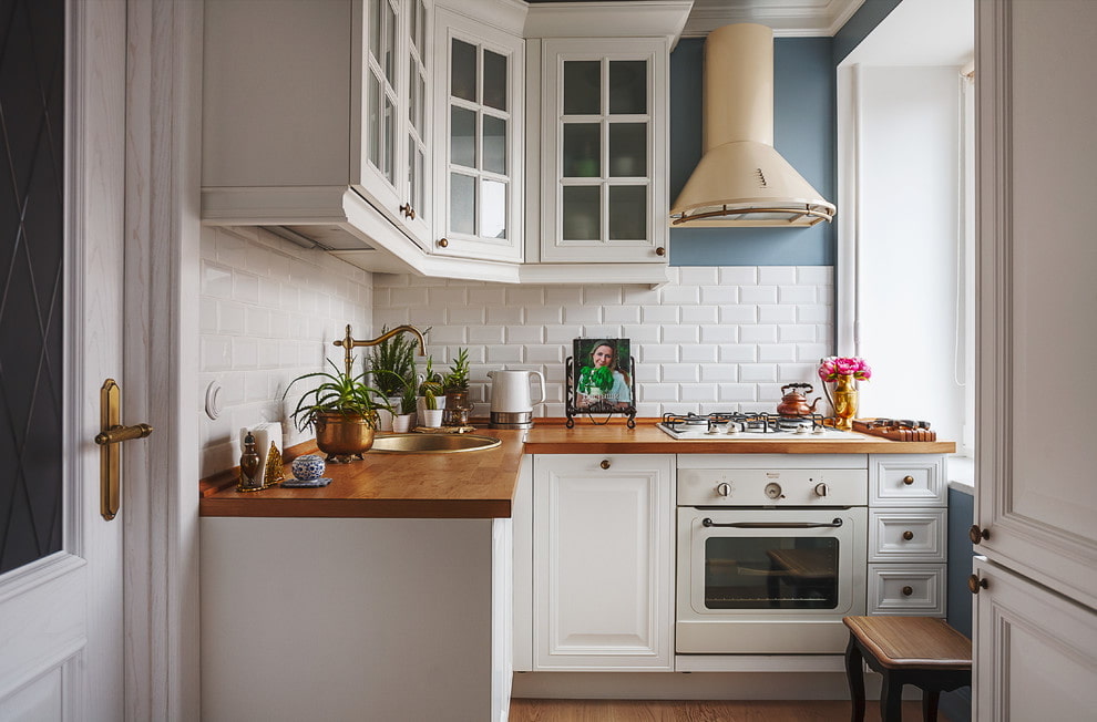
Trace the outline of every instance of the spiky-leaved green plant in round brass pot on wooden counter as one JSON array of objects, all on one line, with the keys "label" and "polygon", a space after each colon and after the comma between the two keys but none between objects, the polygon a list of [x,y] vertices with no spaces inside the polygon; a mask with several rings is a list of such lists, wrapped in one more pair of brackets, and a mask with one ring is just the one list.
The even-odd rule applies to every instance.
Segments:
[{"label": "spiky-leaved green plant in round brass pot on wooden counter", "polygon": [[366,384],[366,374],[351,375],[340,371],[330,359],[332,373],[316,371],[297,377],[286,386],[283,400],[299,381],[317,380],[319,383],[301,394],[297,408],[290,414],[299,431],[316,429],[316,445],[328,455],[327,461],[346,463],[373,445],[377,429],[377,410],[391,406],[378,389]]}]

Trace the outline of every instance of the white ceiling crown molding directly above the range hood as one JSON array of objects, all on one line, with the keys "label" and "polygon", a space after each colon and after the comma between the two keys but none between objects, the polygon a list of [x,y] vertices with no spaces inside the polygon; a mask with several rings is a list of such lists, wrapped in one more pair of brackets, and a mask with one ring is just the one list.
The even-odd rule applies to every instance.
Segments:
[{"label": "white ceiling crown molding directly above the range hood", "polygon": [[777,38],[832,37],[864,0],[696,0],[683,38],[704,38],[722,25],[757,22]]}]

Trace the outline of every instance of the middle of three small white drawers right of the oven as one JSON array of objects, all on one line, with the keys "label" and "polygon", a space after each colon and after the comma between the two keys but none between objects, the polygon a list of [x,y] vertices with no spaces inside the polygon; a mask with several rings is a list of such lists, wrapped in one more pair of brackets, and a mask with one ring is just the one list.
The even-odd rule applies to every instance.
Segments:
[{"label": "middle of three small white drawers right of the oven", "polygon": [[869,561],[945,563],[947,509],[869,514]]}]

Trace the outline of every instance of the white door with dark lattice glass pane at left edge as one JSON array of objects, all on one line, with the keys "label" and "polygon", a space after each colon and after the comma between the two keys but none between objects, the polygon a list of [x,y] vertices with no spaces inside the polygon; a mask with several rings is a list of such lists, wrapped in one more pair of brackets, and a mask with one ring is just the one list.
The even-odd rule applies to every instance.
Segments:
[{"label": "white door with dark lattice glass pane at left edge", "polygon": [[122,382],[125,3],[6,8],[0,719],[121,720],[122,522],[92,440]]}]

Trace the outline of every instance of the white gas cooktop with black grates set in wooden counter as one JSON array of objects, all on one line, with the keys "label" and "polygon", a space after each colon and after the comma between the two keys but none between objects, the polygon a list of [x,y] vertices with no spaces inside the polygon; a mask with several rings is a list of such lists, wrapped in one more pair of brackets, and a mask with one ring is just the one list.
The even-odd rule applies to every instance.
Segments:
[{"label": "white gas cooktop with black grates set in wooden counter", "polygon": [[832,417],[821,414],[779,416],[770,413],[663,414],[656,426],[671,439],[715,440],[826,440],[863,441],[860,434],[839,431],[828,425]]}]

